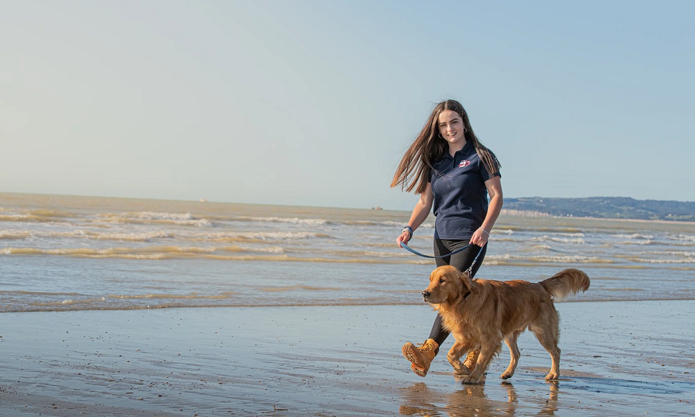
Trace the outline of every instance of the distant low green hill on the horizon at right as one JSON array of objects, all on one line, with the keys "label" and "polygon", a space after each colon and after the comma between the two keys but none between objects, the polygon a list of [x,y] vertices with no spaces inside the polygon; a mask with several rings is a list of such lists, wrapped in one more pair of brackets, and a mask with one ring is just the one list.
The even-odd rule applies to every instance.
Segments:
[{"label": "distant low green hill on the horizon at right", "polygon": [[563,217],[695,221],[695,202],[637,200],[630,197],[505,197],[505,211]]}]

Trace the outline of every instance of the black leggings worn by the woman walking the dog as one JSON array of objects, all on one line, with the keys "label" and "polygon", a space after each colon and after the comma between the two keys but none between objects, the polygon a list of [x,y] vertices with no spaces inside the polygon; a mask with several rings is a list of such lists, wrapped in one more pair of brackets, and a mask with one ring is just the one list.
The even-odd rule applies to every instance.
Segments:
[{"label": "black leggings worn by the woman walking the dog", "polygon": [[[468,245],[468,243],[469,240],[434,239],[434,255],[440,256],[441,254],[448,254],[454,252],[455,250]],[[436,258],[436,265],[452,265],[456,268],[459,268],[460,271],[465,271],[471,266],[471,263],[473,263],[473,259],[475,259],[475,256],[477,256],[479,252],[480,246],[470,245],[465,250],[462,250],[457,254],[453,254],[452,256]],[[471,278],[475,277],[475,272],[477,272],[477,270],[480,268],[480,265],[482,265],[482,260],[485,259],[486,252],[487,245],[485,245],[482,248],[480,256],[478,256],[477,261],[475,261],[475,265],[473,265],[473,269],[471,270]],[[432,332],[430,332],[430,338],[434,339],[437,345],[441,345],[448,336],[449,332],[443,329],[443,327],[441,326],[441,316],[437,314],[436,318],[434,319],[434,325],[432,325]],[[436,348],[435,352],[439,353],[439,347]]]}]

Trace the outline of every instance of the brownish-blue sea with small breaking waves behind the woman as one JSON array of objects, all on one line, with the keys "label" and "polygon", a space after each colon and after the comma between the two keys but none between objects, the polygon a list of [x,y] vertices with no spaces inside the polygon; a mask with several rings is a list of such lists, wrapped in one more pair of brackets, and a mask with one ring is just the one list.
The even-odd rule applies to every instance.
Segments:
[{"label": "brownish-blue sea with small breaking waves behind the woman", "polygon": [[[414,203],[416,198],[414,197]],[[0,194],[0,312],[423,304],[410,213]],[[410,246],[432,254],[434,218]],[[502,215],[477,278],[591,277],[568,301],[694,300],[695,224]]]}]

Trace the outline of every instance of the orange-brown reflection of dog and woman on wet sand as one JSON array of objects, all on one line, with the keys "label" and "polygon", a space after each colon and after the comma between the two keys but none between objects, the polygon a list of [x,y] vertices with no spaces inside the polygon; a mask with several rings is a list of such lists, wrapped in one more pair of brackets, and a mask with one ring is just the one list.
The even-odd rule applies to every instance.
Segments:
[{"label": "orange-brown reflection of dog and woman on wet sand", "polygon": [[[460,378],[456,378],[460,382]],[[500,387],[507,393],[507,401],[492,400],[485,393],[486,386],[483,383],[464,385],[455,392],[441,392],[427,387],[427,384],[418,382],[404,389],[400,405],[400,414],[405,416],[450,416],[450,417],[493,417],[515,416],[517,412],[523,415],[536,414],[537,416],[553,416],[557,411],[557,392],[559,382],[548,382],[548,399],[544,404],[537,400],[522,399],[521,404],[514,385],[510,382],[502,382]],[[491,386],[489,391],[497,390]],[[497,392],[499,393],[499,392]],[[540,406],[540,407],[539,407]],[[534,412],[533,409],[537,408]],[[523,411],[522,411],[523,410]]]}]

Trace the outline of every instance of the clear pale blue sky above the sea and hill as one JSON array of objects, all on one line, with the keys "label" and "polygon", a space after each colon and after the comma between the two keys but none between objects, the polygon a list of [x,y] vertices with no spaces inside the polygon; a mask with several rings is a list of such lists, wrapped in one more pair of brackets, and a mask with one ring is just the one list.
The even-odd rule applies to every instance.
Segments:
[{"label": "clear pale blue sky above the sea and hill", "polygon": [[0,4],[0,192],[409,210],[454,98],[506,197],[695,201],[692,1]]}]

